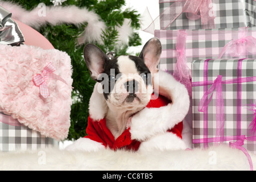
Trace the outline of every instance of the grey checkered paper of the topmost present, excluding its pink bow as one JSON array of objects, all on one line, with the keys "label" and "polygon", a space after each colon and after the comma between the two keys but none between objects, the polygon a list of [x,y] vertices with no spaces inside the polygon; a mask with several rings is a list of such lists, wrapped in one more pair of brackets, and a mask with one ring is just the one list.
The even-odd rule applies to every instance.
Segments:
[{"label": "grey checkered paper of the topmost present, excluding its pink bow", "polygon": [[[175,2],[159,0],[159,13],[162,14],[173,3]],[[213,7],[215,28],[253,27],[256,25],[256,2],[253,0],[212,0],[212,4],[209,6]],[[168,17],[168,15],[164,18],[160,16],[161,30],[203,29],[201,19],[189,20],[185,13],[178,16],[170,26],[163,27],[163,24],[170,22]]]}]

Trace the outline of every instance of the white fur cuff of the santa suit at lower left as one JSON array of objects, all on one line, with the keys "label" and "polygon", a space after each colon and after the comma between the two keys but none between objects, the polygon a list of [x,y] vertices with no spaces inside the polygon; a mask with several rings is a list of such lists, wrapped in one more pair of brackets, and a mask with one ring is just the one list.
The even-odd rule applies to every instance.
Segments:
[{"label": "white fur cuff of the santa suit at lower left", "polygon": [[101,143],[95,142],[89,138],[80,138],[73,144],[67,146],[67,151],[86,151],[86,152],[97,152],[105,149],[105,146]]}]

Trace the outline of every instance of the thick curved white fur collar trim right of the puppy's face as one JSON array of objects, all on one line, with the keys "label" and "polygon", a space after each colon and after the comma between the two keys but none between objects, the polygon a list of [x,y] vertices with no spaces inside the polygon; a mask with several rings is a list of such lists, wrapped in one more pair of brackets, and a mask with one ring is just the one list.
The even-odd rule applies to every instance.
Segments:
[{"label": "thick curved white fur collar trim right of the puppy's face", "polygon": [[131,139],[143,141],[164,133],[183,121],[188,113],[189,96],[185,86],[164,71],[154,77],[155,92],[170,98],[172,103],[160,108],[145,108],[135,114],[131,119]]}]

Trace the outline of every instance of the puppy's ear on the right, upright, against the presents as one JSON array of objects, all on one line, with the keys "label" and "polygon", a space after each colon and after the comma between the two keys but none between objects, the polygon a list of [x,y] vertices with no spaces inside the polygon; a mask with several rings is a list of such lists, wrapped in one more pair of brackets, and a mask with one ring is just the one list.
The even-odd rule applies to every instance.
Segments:
[{"label": "puppy's ear on the right, upright, against the presents", "polygon": [[158,64],[160,61],[160,56],[162,53],[162,46],[160,40],[157,38],[152,38],[143,47],[139,57],[144,60],[144,63],[147,65],[147,68],[151,73],[158,72]]}]

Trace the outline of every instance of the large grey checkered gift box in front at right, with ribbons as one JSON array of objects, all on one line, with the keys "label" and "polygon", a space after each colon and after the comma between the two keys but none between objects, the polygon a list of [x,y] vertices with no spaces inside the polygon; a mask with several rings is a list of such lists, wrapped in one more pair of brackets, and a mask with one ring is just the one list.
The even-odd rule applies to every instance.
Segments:
[{"label": "large grey checkered gift box in front at right, with ribbons", "polygon": [[256,152],[256,137],[249,127],[254,116],[250,107],[256,104],[255,76],[254,59],[193,61],[194,147],[242,140],[242,147]]}]

